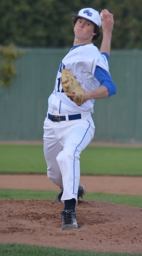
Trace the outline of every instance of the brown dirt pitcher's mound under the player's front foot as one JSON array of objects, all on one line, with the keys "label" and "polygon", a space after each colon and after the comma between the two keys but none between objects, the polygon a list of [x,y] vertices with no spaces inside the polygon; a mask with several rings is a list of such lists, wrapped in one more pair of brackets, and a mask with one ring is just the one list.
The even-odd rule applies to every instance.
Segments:
[{"label": "brown dirt pitcher's mound under the player's front foot", "polygon": [[0,200],[0,242],[66,249],[142,253],[142,209],[81,200],[77,231],[62,231],[62,203]]}]

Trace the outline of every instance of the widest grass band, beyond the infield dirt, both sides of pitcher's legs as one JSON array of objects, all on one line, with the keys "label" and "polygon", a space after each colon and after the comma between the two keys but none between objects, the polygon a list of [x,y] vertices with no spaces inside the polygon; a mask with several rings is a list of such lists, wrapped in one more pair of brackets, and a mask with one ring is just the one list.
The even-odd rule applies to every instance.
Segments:
[{"label": "widest grass band, beyond the infield dirt, both sides of pitcher's legs", "polygon": [[[81,175],[142,176],[142,148],[88,146]],[[0,145],[0,173],[46,173],[42,145]]]}]

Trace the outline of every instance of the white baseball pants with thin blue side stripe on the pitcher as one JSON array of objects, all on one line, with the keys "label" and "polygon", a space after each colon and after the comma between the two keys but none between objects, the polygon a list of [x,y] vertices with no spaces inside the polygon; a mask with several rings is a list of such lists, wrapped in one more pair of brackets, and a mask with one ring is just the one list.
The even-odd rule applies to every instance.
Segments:
[{"label": "white baseball pants with thin blue side stripe on the pitcher", "polygon": [[[85,114],[85,115],[83,115]],[[61,201],[76,199],[80,181],[80,154],[94,136],[94,122],[90,113],[71,121],[44,121],[44,157],[47,175],[63,189]],[[84,117],[85,116],[85,117]]]}]

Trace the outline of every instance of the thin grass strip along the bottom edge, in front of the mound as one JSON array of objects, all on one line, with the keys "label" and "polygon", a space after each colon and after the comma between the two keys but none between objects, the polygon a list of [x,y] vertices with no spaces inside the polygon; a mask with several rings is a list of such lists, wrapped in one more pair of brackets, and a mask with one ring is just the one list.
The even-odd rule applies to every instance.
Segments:
[{"label": "thin grass strip along the bottom edge, in front of the mound", "polygon": [[142,256],[142,254],[65,250],[37,245],[1,243],[0,256]]}]

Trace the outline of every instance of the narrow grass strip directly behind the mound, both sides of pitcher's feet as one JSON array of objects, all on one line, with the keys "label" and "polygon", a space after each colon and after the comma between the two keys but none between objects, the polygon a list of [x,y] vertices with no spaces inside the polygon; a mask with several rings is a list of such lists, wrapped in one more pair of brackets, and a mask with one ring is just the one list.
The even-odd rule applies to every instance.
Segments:
[{"label": "narrow grass strip directly behind the mound, both sides of pitcher's feet", "polygon": [[[55,191],[33,191],[0,189],[0,199],[35,199],[35,200],[53,200],[57,192]],[[83,200],[96,200],[113,202],[133,207],[142,207],[142,195],[118,195],[104,193],[86,193]]]}]

